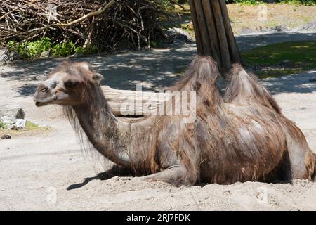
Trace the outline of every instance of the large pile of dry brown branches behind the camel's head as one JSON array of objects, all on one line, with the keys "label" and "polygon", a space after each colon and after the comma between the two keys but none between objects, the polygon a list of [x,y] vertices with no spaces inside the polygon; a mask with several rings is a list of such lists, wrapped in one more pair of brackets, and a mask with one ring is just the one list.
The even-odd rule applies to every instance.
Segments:
[{"label": "large pile of dry brown branches behind the camel's head", "polygon": [[114,51],[150,47],[168,17],[159,0],[1,0],[0,43],[49,37]]}]

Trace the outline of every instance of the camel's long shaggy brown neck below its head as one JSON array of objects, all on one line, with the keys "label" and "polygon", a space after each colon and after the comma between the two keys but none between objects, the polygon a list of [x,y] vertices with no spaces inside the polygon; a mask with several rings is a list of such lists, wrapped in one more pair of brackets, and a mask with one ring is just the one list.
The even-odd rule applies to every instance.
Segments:
[{"label": "camel's long shaggy brown neck below its head", "polygon": [[129,166],[131,160],[126,150],[129,132],[120,130],[119,121],[112,114],[100,86],[91,87],[90,98],[86,104],[73,107],[86,136],[105,158]]}]

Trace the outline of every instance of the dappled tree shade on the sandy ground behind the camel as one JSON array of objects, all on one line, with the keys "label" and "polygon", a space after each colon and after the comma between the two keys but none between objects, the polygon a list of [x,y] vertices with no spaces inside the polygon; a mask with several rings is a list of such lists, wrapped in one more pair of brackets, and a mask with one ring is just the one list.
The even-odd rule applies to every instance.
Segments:
[{"label": "dappled tree shade on the sandy ground behind the camel", "polygon": [[[284,41],[315,40],[316,33],[270,33],[237,36],[237,44],[241,51],[256,46],[274,44]],[[157,91],[166,89],[180,79],[192,58],[196,55],[195,44],[173,46],[170,49],[153,49],[151,51],[130,51],[103,56],[71,58],[74,62],[88,61],[93,68],[103,74],[103,85],[114,89],[135,90],[136,84],[142,84],[143,90]],[[37,84],[46,78],[50,70],[67,58],[35,60],[19,62],[11,66],[11,70],[1,72],[0,77],[20,82],[17,92],[21,96],[32,96]],[[297,80],[294,82],[294,78]],[[316,91],[316,74],[300,77],[289,75],[265,80],[272,94],[279,92],[308,93]]]}]

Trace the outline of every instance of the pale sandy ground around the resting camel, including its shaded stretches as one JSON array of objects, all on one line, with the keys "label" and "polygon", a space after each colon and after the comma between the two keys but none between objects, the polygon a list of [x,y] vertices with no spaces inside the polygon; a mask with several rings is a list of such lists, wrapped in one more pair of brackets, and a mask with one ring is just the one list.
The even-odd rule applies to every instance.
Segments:
[{"label": "pale sandy ground around the resting camel, including its shaded stretches", "polygon": [[[296,34],[286,36],[298,38]],[[300,37],[315,39],[315,34]],[[237,39],[241,49],[275,41],[272,36]],[[147,89],[157,89],[179,79],[176,74],[185,69],[194,53],[194,45],[185,45],[74,60],[91,62],[105,74],[104,84],[114,88],[135,89],[135,84],[141,83]],[[130,177],[98,179],[98,173],[109,169],[110,162],[82,153],[58,106],[36,108],[32,101],[35,86],[59,61],[0,66],[0,103],[18,103],[27,120],[52,127],[33,136],[0,139],[0,210],[316,210],[316,183],[310,181],[176,188],[159,182],[139,183]],[[301,127],[313,150],[315,79],[316,71],[308,71],[263,80],[284,114]]]}]

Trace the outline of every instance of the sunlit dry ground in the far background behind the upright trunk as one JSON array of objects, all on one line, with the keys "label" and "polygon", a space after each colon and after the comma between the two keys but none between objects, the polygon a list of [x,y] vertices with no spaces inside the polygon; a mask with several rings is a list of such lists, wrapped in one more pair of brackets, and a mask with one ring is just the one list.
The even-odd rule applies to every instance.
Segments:
[{"label": "sunlit dry ground in the far background behind the upright trunk", "polygon": [[[174,18],[173,23],[194,36],[190,6],[186,4],[184,10],[176,8],[181,17]],[[316,6],[228,4],[228,13],[235,34],[316,31]]]}]

